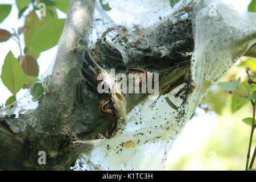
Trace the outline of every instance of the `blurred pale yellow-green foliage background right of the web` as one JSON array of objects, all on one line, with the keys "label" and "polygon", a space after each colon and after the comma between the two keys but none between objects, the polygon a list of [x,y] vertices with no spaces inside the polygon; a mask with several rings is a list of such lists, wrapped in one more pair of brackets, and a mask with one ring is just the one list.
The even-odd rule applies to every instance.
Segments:
[{"label": "blurred pale yellow-green foliage background right of the web", "polygon": [[[233,78],[237,80],[241,77],[242,85],[245,89],[249,89],[246,67],[250,67],[256,73],[256,59],[241,57],[238,63],[220,79],[220,82],[228,82]],[[255,86],[251,88],[251,92],[253,90]],[[205,96],[200,107],[207,114],[217,115],[217,126],[212,130],[210,137],[196,150],[180,156],[175,162],[167,163],[166,170],[245,170],[251,127],[242,122],[242,119],[253,115],[253,106],[250,101],[241,100],[214,86]],[[196,115],[199,113],[196,112]],[[199,117],[194,119],[200,119]],[[251,156],[255,144],[254,135]],[[256,164],[253,168],[256,168]]]}]

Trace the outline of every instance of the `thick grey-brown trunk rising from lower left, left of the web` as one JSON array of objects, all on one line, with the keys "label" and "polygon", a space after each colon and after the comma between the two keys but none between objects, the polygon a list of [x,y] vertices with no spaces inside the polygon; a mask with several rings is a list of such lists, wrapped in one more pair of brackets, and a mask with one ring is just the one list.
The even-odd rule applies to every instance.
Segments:
[{"label": "thick grey-brown trunk rising from lower left, left of the web", "polygon": [[[82,59],[73,48],[77,40],[88,40],[94,0],[71,0],[49,85],[31,115],[0,117],[1,169],[69,170],[79,155],[73,141],[72,119],[61,119],[76,103]],[[78,147],[78,148],[77,148]],[[86,148],[86,147],[85,147]],[[38,152],[46,152],[47,164],[38,164]]]}]

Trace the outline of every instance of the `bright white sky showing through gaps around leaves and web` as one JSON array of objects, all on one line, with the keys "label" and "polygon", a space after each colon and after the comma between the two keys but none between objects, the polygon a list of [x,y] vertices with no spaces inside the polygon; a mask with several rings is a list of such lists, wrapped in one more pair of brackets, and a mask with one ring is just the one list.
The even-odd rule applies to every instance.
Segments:
[{"label": "bright white sky showing through gaps around leaves and web", "polygon": [[[247,7],[250,3],[250,0],[222,0],[226,3],[231,3],[237,7],[240,11],[247,11]],[[15,0],[0,0],[0,4],[15,4]],[[24,24],[25,17],[29,10],[26,10],[23,16],[18,19],[18,9],[16,6],[12,6],[10,15],[0,23],[0,29],[6,29],[10,32],[13,32],[12,28],[18,30],[18,27],[22,27]],[[57,10],[59,18],[65,18],[65,14]],[[21,36],[21,44],[24,47],[24,37]],[[7,42],[0,43],[0,73],[2,70],[3,61],[5,56],[9,51],[12,51],[15,57],[19,56],[19,47],[13,39],[8,40]],[[39,76],[41,76],[46,69],[51,64],[52,60],[55,57],[57,51],[57,46],[44,51],[41,53],[38,64],[39,64]],[[17,94],[17,98],[20,98],[26,93],[27,90],[21,90]],[[0,105],[4,104],[7,98],[11,96],[11,92],[3,85],[0,80]],[[198,116],[194,117],[191,121],[187,123],[183,132],[179,135],[176,142],[171,148],[171,151],[168,154],[167,163],[175,162],[179,159],[179,156],[183,154],[188,154],[189,152],[199,150],[201,144],[210,137],[210,134],[214,131],[214,128],[217,127],[217,116],[215,114],[205,114],[202,110],[197,110]],[[192,168],[193,169],[193,168]]]}]

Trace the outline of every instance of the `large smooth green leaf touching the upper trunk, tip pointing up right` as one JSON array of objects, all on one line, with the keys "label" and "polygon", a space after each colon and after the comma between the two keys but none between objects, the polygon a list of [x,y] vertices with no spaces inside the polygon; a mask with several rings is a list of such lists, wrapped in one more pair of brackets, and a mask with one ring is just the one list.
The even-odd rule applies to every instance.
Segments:
[{"label": "large smooth green leaf touching the upper trunk, tip pointing up right", "polygon": [[58,43],[63,32],[65,19],[56,19],[45,24],[31,41],[31,47],[38,52],[46,51]]}]

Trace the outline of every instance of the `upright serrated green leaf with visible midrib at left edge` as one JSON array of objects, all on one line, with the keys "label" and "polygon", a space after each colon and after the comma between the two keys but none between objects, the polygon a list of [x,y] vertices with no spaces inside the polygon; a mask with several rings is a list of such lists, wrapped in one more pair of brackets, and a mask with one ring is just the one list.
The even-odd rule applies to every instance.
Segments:
[{"label": "upright serrated green leaf with visible midrib at left edge", "polygon": [[7,89],[13,93],[13,96],[22,88],[23,82],[19,80],[19,77],[22,75],[24,75],[23,69],[10,51],[3,63],[1,79]]}]

